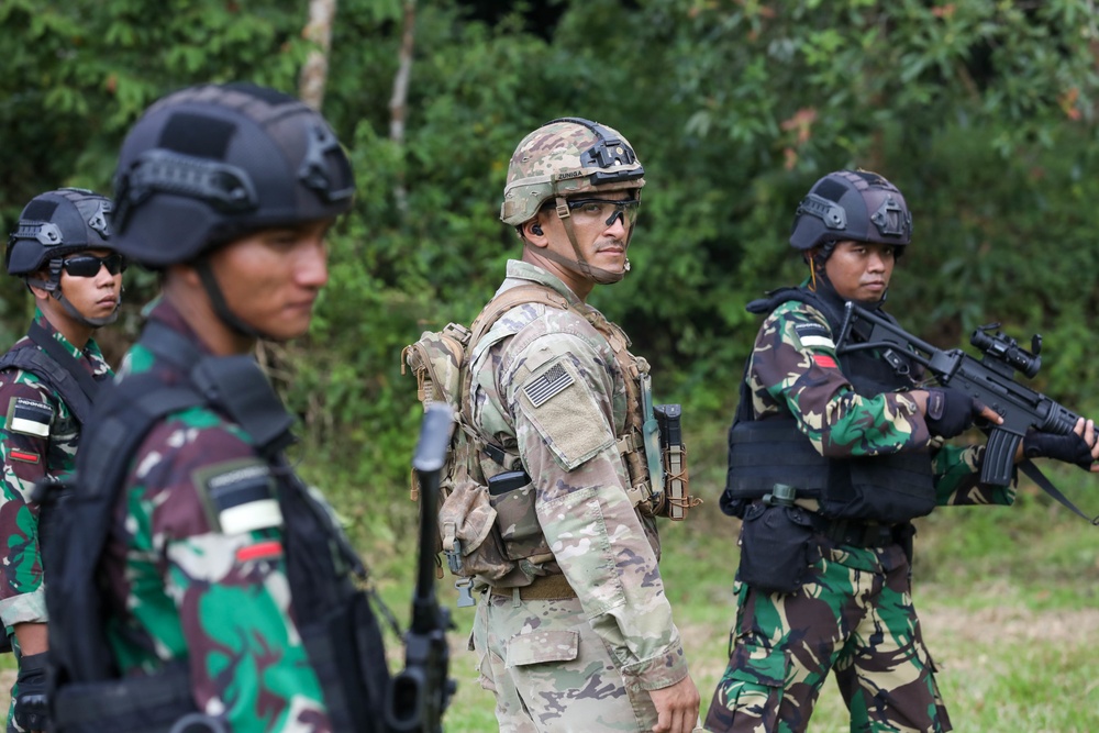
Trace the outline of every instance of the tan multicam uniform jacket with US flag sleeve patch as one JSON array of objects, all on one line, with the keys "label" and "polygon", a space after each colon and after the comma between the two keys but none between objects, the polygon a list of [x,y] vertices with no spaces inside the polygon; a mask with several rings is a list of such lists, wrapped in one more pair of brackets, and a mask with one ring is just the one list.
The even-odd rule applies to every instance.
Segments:
[{"label": "tan multicam uniform jacket with US flag sleeve patch", "polygon": [[[623,375],[595,309],[556,277],[508,263],[500,292],[531,282],[553,288],[587,315],[519,306],[474,352],[473,419],[491,443],[518,453],[535,491],[534,512],[563,573],[623,678],[659,689],[687,676],[679,631],[664,595],[655,521],[626,497],[615,445],[625,424]],[[502,332],[508,336],[499,338]],[[647,365],[639,359],[641,367]]]}]

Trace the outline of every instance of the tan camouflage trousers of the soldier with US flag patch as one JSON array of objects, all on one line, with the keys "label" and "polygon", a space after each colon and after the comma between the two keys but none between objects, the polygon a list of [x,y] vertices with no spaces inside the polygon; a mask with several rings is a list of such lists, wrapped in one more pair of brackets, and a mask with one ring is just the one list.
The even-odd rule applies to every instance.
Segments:
[{"label": "tan camouflage trousers of the soldier with US flag patch", "polygon": [[487,592],[473,646],[481,687],[496,695],[500,733],[650,731],[656,708],[628,685],[578,600],[528,600]]}]

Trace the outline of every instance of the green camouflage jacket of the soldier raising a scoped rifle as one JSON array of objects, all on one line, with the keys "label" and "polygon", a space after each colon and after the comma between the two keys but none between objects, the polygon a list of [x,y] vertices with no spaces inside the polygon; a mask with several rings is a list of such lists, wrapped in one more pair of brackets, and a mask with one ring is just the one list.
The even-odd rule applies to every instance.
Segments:
[{"label": "green camouflage jacket of the soldier raising a scoped rifle", "polygon": [[1014,500],[1014,487],[979,484],[984,446],[955,446],[930,436],[907,395],[857,395],[840,370],[828,319],[812,306],[787,301],[767,316],[747,379],[756,419],[792,414],[821,455],[857,457],[928,448],[939,506]]}]

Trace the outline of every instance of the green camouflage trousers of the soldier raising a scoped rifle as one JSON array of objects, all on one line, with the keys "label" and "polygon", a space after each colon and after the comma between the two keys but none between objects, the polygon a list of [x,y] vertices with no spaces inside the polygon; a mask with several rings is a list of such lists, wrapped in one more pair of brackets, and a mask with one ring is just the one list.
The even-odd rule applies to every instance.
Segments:
[{"label": "green camouflage trousers of the soldier raising a scoped rifle", "polygon": [[853,733],[952,730],[903,549],[841,549],[826,540],[820,549],[809,581],[793,593],[761,593],[737,580],[729,667],[706,730],[804,731],[832,669]]}]

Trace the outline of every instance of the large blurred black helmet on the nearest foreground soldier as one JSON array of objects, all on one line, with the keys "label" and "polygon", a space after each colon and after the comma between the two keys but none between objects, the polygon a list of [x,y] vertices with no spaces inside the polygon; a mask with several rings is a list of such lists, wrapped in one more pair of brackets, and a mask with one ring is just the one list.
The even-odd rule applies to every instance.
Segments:
[{"label": "large blurred black helmet on the nearest foreground soldier", "polygon": [[315,111],[246,84],[191,87],[149,107],[114,176],[115,244],[164,267],[249,232],[351,208],[351,163]]}]

